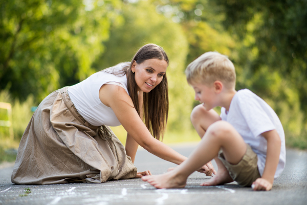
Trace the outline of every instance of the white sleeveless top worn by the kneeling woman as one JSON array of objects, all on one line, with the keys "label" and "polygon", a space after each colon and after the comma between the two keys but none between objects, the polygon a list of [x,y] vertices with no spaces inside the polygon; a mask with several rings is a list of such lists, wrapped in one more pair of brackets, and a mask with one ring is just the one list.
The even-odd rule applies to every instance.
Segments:
[{"label": "white sleeveless top worn by the kneeling woman", "polygon": [[128,93],[126,75],[121,76],[119,74],[117,76],[113,74],[113,72],[119,73],[125,66],[129,66],[129,63],[121,63],[94,73],[80,83],[68,88],[68,94],[77,111],[89,124],[112,127],[121,125],[112,108],[101,103],[99,90],[104,84],[114,84],[121,86]]}]

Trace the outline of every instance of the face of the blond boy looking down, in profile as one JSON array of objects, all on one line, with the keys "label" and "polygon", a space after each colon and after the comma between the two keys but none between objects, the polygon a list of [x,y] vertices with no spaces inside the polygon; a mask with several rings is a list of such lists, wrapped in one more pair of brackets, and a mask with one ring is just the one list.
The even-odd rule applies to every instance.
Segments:
[{"label": "face of the blond boy looking down, in profile", "polygon": [[195,100],[200,101],[207,111],[216,107],[216,93],[214,86],[208,87],[204,84],[191,84],[195,91]]}]

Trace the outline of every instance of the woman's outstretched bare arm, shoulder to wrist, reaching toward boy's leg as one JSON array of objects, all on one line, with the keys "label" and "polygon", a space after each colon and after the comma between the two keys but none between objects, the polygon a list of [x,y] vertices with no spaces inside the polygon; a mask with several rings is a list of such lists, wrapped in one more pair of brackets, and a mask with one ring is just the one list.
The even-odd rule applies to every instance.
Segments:
[{"label": "woman's outstretched bare arm, shoulder to wrist, reaching toward boy's leg", "polygon": [[103,85],[99,91],[99,98],[104,105],[113,109],[125,130],[145,150],[177,165],[187,159],[152,137],[134,108],[130,96],[123,88],[115,85]]}]

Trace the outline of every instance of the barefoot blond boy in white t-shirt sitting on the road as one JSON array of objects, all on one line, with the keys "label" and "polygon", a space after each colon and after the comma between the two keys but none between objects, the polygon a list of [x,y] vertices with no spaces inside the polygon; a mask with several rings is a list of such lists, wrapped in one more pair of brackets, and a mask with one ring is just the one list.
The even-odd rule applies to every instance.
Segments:
[{"label": "barefoot blond boy in white t-shirt sitting on the road", "polygon": [[[142,179],[156,188],[184,187],[190,174],[214,158],[217,174],[202,186],[235,180],[240,186],[254,184],[254,190],[271,190],[286,163],[284,132],[276,113],[250,90],[235,91],[234,66],[220,53],[201,55],[187,67],[186,76],[202,103],[191,114],[202,140],[176,169]],[[222,107],[221,116],[212,110],[216,106]]]}]

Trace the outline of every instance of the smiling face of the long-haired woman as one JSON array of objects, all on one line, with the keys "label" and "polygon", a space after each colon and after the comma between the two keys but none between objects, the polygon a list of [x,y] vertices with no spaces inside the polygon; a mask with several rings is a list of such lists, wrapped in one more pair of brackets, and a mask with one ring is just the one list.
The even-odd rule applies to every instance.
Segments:
[{"label": "smiling face of the long-haired woman", "polygon": [[135,72],[135,80],[138,91],[150,92],[158,86],[165,75],[167,62],[157,58],[145,60],[141,64],[134,61],[131,71]]}]

